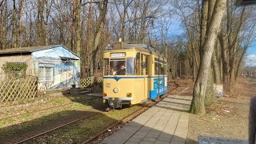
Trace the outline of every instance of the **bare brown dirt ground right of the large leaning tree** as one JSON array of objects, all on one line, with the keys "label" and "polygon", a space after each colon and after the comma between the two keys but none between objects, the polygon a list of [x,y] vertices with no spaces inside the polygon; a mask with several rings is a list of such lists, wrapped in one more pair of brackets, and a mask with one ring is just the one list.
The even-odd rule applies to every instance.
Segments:
[{"label": "bare brown dirt ground right of the large leaning tree", "polygon": [[256,95],[256,82],[239,79],[231,94],[217,98],[206,108],[207,114],[190,114],[186,143],[197,143],[200,135],[248,139],[248,114],[253,95]]}]

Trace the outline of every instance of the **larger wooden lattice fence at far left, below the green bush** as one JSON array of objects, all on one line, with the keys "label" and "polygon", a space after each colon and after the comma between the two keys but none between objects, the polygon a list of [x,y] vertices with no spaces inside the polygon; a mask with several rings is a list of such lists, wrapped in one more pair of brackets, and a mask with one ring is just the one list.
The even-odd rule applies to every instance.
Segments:
[{"label": "larger wooden lattice fence at far left, below the green bush", "polygon": [[33,99],[38,93],[38,79],[26,78],[5,79],[0,82],[0,105],[25,102]]}]

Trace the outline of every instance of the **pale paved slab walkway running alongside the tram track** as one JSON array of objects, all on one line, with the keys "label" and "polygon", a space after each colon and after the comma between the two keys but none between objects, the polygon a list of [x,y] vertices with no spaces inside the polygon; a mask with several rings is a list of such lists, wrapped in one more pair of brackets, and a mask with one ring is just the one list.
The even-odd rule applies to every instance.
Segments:
[{"label": "pale paved slab walkway running alongside the tram track", "polygon": [[188,110],[189,106],[177,104],[190,104],[190,100],[186,99],[192,98],[167,96],[164,101],[158,102],[157,106],[134,118],[117,133],[106,138],[103,143],[185,143],[190,114],[176,109]]}]

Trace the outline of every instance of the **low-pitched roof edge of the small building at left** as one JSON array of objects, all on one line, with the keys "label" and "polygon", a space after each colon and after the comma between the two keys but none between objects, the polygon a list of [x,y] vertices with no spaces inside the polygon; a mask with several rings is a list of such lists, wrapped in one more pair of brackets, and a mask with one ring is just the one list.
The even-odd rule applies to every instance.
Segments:
[{"label": "low-pitched roof edge of the small building at left", "polygon": [[[52,48],[59,47],[59,46],[62,46],[66,50],[69,50],[68,48],[66,48],[66,46],[63,46],[63,45],[30,46],[30,47],[21,47],[21,48],[11,48],[11,49],[6,49],[6,50],[0,50],[0,56],[1,56],[1,54],[25,54],[25,53],[32,53],[32,52],[35,52],[35,51],[52,49]],[[70,51],[70,53],[74,54],[73,51],[71,51],[71,50],[69,50],[69,51]],[[76,55],[78,58],[81,58],[77,54],[74,54],[74,55]]]}]

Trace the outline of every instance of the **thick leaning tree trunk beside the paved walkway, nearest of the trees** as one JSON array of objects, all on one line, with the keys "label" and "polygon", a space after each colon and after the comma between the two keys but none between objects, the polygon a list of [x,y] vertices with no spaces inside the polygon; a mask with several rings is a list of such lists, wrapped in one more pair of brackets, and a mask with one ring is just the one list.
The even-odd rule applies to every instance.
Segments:
[{"label": "thick leaning tree trunk beside the paved walkway, nearest of the trees", "polygon": [[226,6],[226,0],[217,0],[214,6],[214,13],[210,19],[209,31],[206,34],[206,39],[202,45],[203,53],[201,58],[201,64],[198,71],[198,77],[194,84],[194,94],[192,105],[190,106],[190,112],[193,114],[205,114],[205,97],[206,86],[208,82],[210,63],[212,54],[214,51],[214,43],[217,38],[222,16],[224,14],[224,8]]}]

